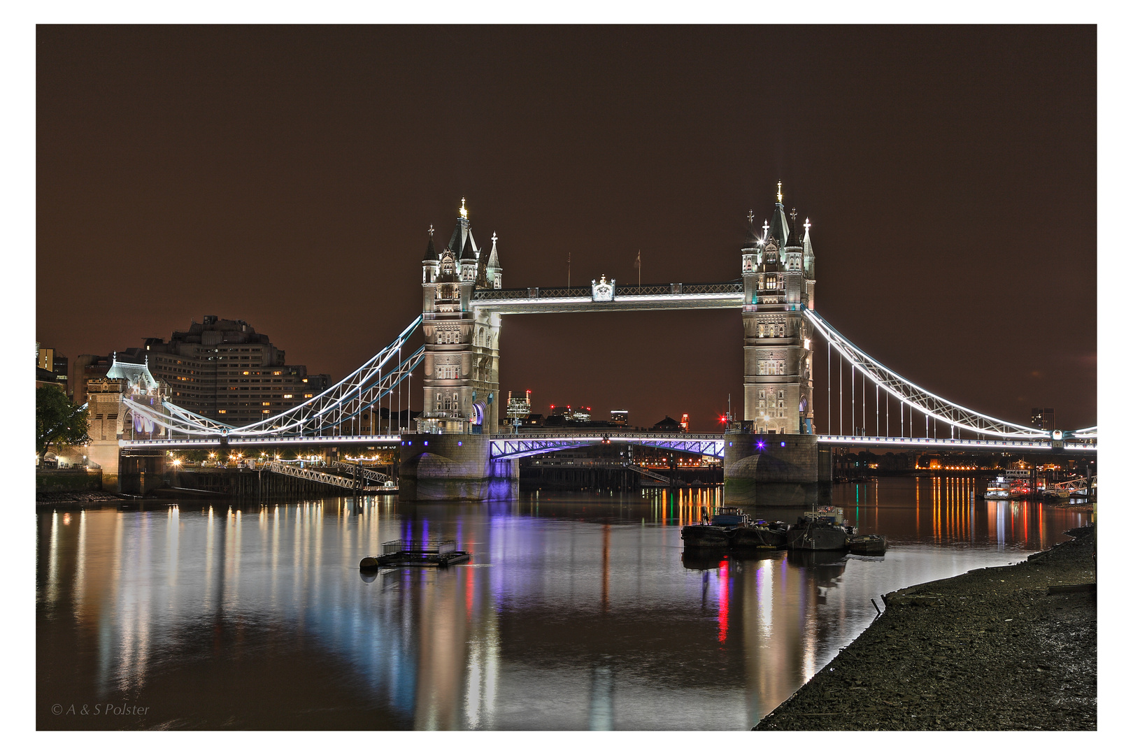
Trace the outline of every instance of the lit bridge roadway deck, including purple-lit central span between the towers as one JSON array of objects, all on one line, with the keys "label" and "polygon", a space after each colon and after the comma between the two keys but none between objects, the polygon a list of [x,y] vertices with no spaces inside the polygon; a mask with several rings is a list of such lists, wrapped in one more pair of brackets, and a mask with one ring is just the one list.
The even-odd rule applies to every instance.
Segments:
[{"label": "lit bridge roadway deck, including purple-lit central span between the towers", "polygon": [[[765,435],[760,436],[768,443],[784,436]],[[1054,441],[1045,439],[1007,440],[987,438],[901,438],[886,436],[855,436],[855,435],[818,435],[815,436],[819,444],[826,446],[860,446],[860,447],[891,447],[891,448],[932,448],[953,451],[1017,451],[1017,452],[1050,452],[1054,451]],[[724,457],[724,434],[701,434],[701,432],[642,432],[628,430],[580,430],[569,431],[521,431],[518,435],[501,435],[492,437],[492,458],[508,460],[521,458],[523,456],[535,456],[552,451],[566,448],[579,448],[581,446],[602,445],[606,443],[625,443],[638,446],[650,446],[655,448],[667,448],[681,451],[690,454],[702,454],[706,456]],[[122,448],[211,448],[228,445],[230,448],[244,448],[254,446],[397,446],[401,444],[400,435],[338,435],[338,436],[291,436],[291,437],[233,437],[229,436],[224,440],[220,438],[178,438],[171,440],[119,440]],[[1098,447],[1093,443],[1075,443],[1073,439],[1066,440],[1062,446],[1064,452],[1070,453],[1097,453]]]}]

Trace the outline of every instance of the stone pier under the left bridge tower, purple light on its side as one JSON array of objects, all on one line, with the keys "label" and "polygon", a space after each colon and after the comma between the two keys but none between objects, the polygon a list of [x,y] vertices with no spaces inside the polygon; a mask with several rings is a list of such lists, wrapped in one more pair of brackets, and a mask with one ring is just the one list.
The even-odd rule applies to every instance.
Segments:
[{"label": "stone pier under the left bridge tower, purple light on its side", "polygon": [[505,500],[519,484],[518,460],[492,460],[492,436],[401,436],[401,500]]}]

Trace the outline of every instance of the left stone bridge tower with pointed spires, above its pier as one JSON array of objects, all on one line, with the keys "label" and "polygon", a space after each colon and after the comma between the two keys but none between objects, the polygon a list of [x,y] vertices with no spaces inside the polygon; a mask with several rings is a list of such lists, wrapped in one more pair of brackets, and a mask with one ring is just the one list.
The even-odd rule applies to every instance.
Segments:
[{"label": "left stone bridge tower with pointed spires, above its pier", "polygon": [[468,209],[438,256],[429,229],[421,261],[425,331],[425,413],[419,431],[492,432],[499,423],[500,315],[472,311],[472,291],[499,289],[503,269],[496,237],[487,255],[476,246]]}]

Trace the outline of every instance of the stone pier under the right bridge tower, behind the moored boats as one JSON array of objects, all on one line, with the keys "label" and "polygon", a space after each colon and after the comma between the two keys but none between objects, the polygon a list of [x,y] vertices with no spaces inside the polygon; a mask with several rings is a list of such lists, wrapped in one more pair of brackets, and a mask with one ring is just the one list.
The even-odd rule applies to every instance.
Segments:
[{"label": "stone pier under the right bridge tower, behind the moored boats", "polygon": [[815,436],[724,434],[727,505],[820,506],[830,490],[830,451]]}]

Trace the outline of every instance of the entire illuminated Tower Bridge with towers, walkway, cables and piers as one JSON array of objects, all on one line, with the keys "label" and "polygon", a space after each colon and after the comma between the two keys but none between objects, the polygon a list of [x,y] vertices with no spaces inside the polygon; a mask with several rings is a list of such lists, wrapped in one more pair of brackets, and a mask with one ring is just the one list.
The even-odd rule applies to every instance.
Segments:
[{"label": "entire illuminated Tower Bridge with towers, walkway, cables and piers", "polygon": [[[815,308],[810,228],[809,218],[799,223],[793,209],[789,220],[780,185],[770,222],[757,226],[755,213],[748,213],[734,281],[619,285],[603,275],[582,286],[504,289],[499,237],[493,233],[491,248],[482,248],[461,200],[440,252],[429,228],[420,316],[347,378],[299,406],[233,427],[169,402],[152,378],[134,376],[139,370],[120,370],[117,447],[140,453],[208,445],[397,445],[403,498],[484,499],[508,495],[520,457],[630,443],[723,458],[727,497],[741,503],[774,489],[791,500],[812,500],[829,484],[833,446],[1096,452],[1097,427],[1043,431],[999,420],[915,385],[858,349]],[[664,309],[741,311],[743,413],[729,418],[724,432],[497,431],[503,316]],[[410,352],[407,343],[418,329],[425,344]],[[827,417],[816,418],[813,357],[821,343]],[[415,372],[424,411],[415,427],[394,428],[394,400],[400,417],[403,395],[411,405]],[[846,372],[849,432],[843,427]],[[384,432],[370,428],[366,434],[361,418],[375,406],[387,406],[391,419]]]}]

